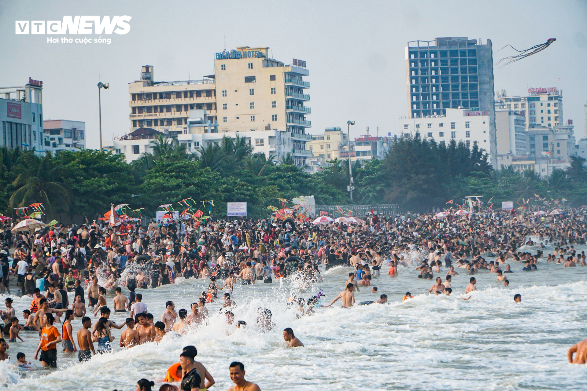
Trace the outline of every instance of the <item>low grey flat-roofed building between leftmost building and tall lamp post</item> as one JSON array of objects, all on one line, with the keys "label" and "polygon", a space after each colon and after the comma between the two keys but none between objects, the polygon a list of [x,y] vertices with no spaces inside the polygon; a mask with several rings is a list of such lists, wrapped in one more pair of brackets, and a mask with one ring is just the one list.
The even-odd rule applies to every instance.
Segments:
[{"label": "low grey flat-roofed building between leftmost building and tall lamp post", "polygon": [[45,150],[76,151],[86,148],[86,123],[70,120],[45,120]]}]

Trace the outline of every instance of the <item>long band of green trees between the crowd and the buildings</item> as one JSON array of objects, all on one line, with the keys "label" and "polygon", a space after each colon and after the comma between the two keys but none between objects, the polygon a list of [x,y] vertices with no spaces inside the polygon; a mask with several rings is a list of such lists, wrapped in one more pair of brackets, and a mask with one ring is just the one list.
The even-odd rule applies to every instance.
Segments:
[{"label": "long band of green trees between the crowd and the buildings", "polygon": [[[266,206],[278,203],[276,198],[299,195],[314,195],[317,204],[349,203],[348,160],[330,161],[311,175],[295,166],[291,155],[276,162],[252,151],[241,137],[224,137],[194,152],[159,137],[150,153],[127,164],[122,154],[94,149],[42,155],[0,148],[0,211],[14,216],[13,208],[42,202],[50,219],[73,216],[81,222],[102,216],[110,203],[145,208],[143,215],[152,218],[162,203],[190,197],[214,200],[214,216],[225,215],[227,202],[248,202],[249,216],[268,216]],[[417,211],[447,208],[451,199],[463,203],[468,195],[493,198],[494,209],[502,201],[521,204],[535,195],[579,206],[587,200],[584,162],[571,157],[571,166],[552,170],[547,183],[533,169],[492,169],[477,144],[469,148],[454,140],[445,145],[419,135],[401,137],[392,140],[384,159],[353,162],[353,195],[355,203],[396,203]]]}]

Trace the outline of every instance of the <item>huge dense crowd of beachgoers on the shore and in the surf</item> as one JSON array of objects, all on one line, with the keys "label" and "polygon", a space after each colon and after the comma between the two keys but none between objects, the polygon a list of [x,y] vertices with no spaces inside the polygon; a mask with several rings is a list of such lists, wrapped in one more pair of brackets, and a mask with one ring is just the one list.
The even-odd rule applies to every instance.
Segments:
[{"label": "huge dense crowd of beachgoers on the shore and in the surf", "polygon": [[[4,320],[2,334],[8,342],[22,341],[22,336],[39,338],[34,359],[55,368],[59,342],[64,352],[77,351],[80,362],[96,353],[112,351],[111,328],[126,326],[119,341],[122,348],[161,341],[169,332],[185,334],[204,324],[206,305],[219,300],[219,294],[227,325],[251,327],[235,320],[235,284],[272,284],[297,276],[310,286],[321,283],[321,267],[347,266],[353,271],[344,285],[341,281],[344,289],[328,305],[322,305],[320,293],[308,300],[295,295],[289,298],[287,305],[296,308],[300,316],[312,315],[315,308],[330,307],[338,300],[342,307],[352,307],[361,288],[377,291],[374,278],[381,274],[396,276],[400,267],[407,273],[414,261],[414,277],[435,281],[429,293],[450,295],[452,277],[467,274],[471,277],[464,293],[470,294],[477,290],[477,273],[494,273],[496,281],[509,285],[512,264],[519,263],[524,273],[537,271],[544,261],[562,267],[586,266],[585,251],[574,247],[586,243],[585,217],[585,209],[573,209],[548,219],[500,212],[473,218],[449,215],[444,219],[431,214],[368,215],[357,224],[326,225],[246,219],[207,220],[201,224],[194,220],[151,221],[145,225],[129,222],[111,227],[94,221],[82,226],[45,227],[32,234],[13,234],[11,225],[6,225],[0,234],[0,293],[11,294],[12,281],[12,295],[29,295],[32,300],[29,308],[19,309],[22,319],[18,319],[12,298],[6,298],[6,309],[0,313]],[[533,254],[524,250],[524,244],[543,250]],[[544,254],[546,246],[554,251]],[[420,253],[416,259],[414,251]],[[382,267],[388,263],[389,272],[383,273]],[[208,287],[189,309],[176,311],[174,302],[167,301],[160,321],[154,321],[143,297],[149,289],[174,284],[179,277],[200,279]],[[129,294],[123,295],[122,288]],[[403,300],[411,297],[408,292]],[[387,295],[381,294],[380,300],[358,304],[385,304],[387,300]],[[129,312],[130,316],[124,324],[116,324],[109,319],[112,310]],[[100,314],[100,318],[92,322],[89,311],[94,316]],[[269,309],[259,308],[254,327],[261,332],[271,330],[275,327],[271,317]],[[82,318],[77,332],[71,325],[75,318]],[[62,323],[61,332],[56,322]],[[285,328],[283,333],[287,346],[303,346],[292,328]],[[6,349],[8,343],[0,339],[0,360],[8,358]],[[193,346],[184,348],[180,362],[172,365],[166,376],[166,382],[180,385],[166,383],[161,389],[207,389],[214,385],[210,373],[194,361],[195,355]],[[569,349],[569,362],[585,363],[586,356],[585,341]],[[22,352],[16,359],[16,365],[33,365]],[[232,362],[229,369],[235,383],[232,389],[259,389],[244,379],[242,363]],[[137,390],[150,390],[153,385],[141,379]]]}]

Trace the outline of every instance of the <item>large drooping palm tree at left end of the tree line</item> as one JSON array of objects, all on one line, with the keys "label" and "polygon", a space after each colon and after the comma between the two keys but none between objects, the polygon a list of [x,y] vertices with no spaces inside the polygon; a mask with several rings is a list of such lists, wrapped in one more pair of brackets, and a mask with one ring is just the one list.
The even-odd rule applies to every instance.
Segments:
[{"label": "large drooping palm tree at left end of the tree line", "polygon": [[65,205],[69,202],[69,193],[62,182],[62,166],[50,152],[43,157],[33,153],[22,155],[14,173],[16,179],[12,185],[16,191],[9,200],[12,208],[42,202],[47,214],[52,215],[54,201]]}]

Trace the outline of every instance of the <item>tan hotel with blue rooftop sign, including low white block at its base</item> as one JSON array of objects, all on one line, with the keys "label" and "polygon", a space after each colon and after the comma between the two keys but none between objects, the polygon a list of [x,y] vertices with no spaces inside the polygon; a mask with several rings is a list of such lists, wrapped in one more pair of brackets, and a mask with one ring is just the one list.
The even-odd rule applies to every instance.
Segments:
[{"label": "tan hotel with blue rooftop sign, including low white block at its base", "polygon": [[[255,152],[277,159],[291,153],[305,164],[312,152],[305,134],[311,127],[304,106],[310,100],[305,61],[285,64],[269,58],[268,47],[237,47],[215,53],[214,74],[202,80],[155,81],[153,66],[129,83],[130,133],[104,140],[105,148],[126,154],[127,161],[149,151],[158,134],[176,137],[188,150],[221,140],[247,138]],[[227,134],[228,133],[228,134]]]}]

